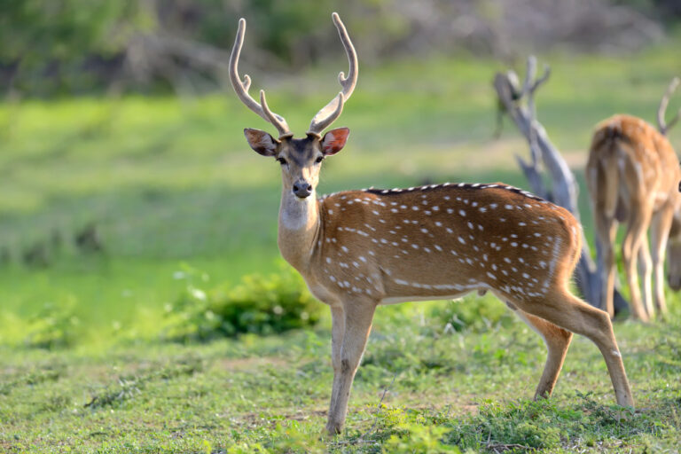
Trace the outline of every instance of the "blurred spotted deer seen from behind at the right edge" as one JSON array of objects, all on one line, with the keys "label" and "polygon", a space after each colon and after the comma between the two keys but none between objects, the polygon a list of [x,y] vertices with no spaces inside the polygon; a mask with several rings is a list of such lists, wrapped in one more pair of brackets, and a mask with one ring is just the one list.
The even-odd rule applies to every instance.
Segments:
[{"label": "blurred spotted deer seen from behind at the right edge", "polygon": [[[599,241],[603,270],[601,307],[613,316],[614,240],[619,223],[626,225],[622,260],[630,289],[631,311],[643,321],[654,316],[654,306],[664,314],[664,259],[669,258],[667,281],[681,289],[681,170],[666,132],[664,113],[678,79],[672,81],[658,109],[659,131],[630,115],[601,121],[593,133],[586,182]],[[681,113],[681,111],[679,111]],[[650,230],[651,247],[647,231]],[[643,281],[643,295],[638,283]],[[651,278],[653,286],[651,286]]]}]

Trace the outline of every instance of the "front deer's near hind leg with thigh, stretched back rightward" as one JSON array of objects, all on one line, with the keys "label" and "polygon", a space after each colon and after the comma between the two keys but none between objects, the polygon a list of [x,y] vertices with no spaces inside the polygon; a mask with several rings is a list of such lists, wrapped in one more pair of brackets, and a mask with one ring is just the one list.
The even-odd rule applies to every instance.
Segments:
[{"label": "front deer's near hind leg with thigh, stretched back rightward", "polygon": [[555,289],[544,301],[522,302],[520,307],[536,317],[544,318],[593,341],[606,360],[617,403],[622,406],[634,405],[622,355],[614,339],[613,325],[607,312],[590,306],[570,294],[567,289]]}]

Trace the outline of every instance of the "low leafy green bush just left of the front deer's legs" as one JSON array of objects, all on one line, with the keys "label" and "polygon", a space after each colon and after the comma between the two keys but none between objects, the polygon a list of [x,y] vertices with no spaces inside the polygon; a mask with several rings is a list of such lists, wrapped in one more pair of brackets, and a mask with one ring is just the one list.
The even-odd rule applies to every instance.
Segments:
[{"label": "low leafy green bush just left of the front deer's legs", "polygon": [[250,275],[238,286],[206,291],[188,279],[183,294],[167,307],[164,337],[210,340],[240,333],[273,334],[313,326],[323,306],[302,278],[282,266],[268,276]]}]

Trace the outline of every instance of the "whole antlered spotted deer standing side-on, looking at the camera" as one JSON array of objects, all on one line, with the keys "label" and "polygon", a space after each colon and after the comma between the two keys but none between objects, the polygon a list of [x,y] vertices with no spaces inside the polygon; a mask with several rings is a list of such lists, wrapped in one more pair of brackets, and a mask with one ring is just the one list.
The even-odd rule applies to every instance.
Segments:
[{"label": "whole antlered spotted deer standing side-on, looking at the camera", "polygon": [[347,128],[322,132],[355,89],[356,51],[333,13],[348,54],[342,91],[313,118],[306,137],[248,95],[239,77],[246,21],[231,53],[231,82],[278,138],[245,129],[256,153],[281,166],[278,218],[281,254],[331,308],[333,387],[326,430],[340,433],[350,387],[380,304],[456,298],[491,291],[543,338],[548,358],[535,397],[551,395],[572,333],[593,340],[605,358],[617,403],[632,406],[629,382],[607,313],[570,293],[580,251],[580,225],[570,213],[505,184],[430,184],[367,189],[316,197],[322,162],[346,144]]}]

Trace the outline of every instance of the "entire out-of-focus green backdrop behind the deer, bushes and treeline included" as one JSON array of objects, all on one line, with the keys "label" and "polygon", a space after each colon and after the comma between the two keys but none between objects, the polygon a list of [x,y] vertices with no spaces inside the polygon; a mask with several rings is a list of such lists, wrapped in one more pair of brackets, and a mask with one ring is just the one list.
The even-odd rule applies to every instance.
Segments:
[{"label": "entire out-of-focus green backdrop behind the deer, bushes and treeline included", "polygon": [[[325,163],[320,193],[433,181],[527,187],[513,159],[527,145],[508,122],[493,137],[491,80],[521,69],[529,52],[552,67],[538,119],[582,180],[593,125],[621,112],[653,121],[681,74],[675,0],[0,8],[0,343],[28,347],[207,340],[325,320],[278,262],[278,167],[242,135],[271,128],[225,77],[239,17],[248,21],[241,73],[299,134],[347,70],[331,12],[348,27],[360,75],[339,125],[352,134]],[[670,138],[679,144],[681,133]],[[434,317],[479,323],[457,310]]]}]

